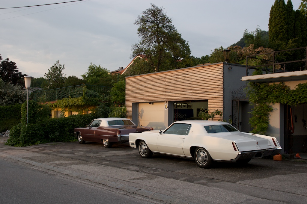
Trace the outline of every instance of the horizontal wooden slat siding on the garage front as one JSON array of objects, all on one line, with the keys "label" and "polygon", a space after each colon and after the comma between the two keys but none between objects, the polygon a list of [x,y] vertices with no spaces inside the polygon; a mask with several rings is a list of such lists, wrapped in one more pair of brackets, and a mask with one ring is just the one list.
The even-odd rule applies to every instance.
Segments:
[{"label": "horizontal wooden slat siding on the garage front", "polygon": [[126,78],[128,118],[132,103],[181,100],[208,100],[209,110],[223,110],[223,63]]}]

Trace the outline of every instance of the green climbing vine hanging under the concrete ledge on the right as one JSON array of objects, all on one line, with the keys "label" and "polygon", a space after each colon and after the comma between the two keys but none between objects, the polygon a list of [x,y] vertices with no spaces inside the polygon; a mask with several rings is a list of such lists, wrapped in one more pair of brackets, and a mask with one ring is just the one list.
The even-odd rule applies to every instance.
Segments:
[{"label": "green climbing vine hanging under the concrete ledge on the right", "polygon": [[253,133],[265,134],[269,127],[269,116],[273,108],[270,104],[282,103],[296,106],[307,102],[307,83],[298,84],[291,90],[285,83],[269,84],[263,82],[249,82],[246,88],[252,109],[250,118]]}]

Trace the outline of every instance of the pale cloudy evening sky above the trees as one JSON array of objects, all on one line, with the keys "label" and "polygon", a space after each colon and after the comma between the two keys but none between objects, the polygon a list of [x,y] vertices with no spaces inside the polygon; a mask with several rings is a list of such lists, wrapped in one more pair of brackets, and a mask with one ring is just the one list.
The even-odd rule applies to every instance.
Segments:
[{"label": "pale cloudy evening sky above the trees", "polygon": [[[109,71],[131,62],[138,15],[163,7],[195,57],[227,48],[256,27],[268,31],[275,0],[0,0],[0,54],[22,74],[44,77],[59,60],[67,76],[81,78],[91,63]],[[287,0],[285,1],[287,2]],[[297,10],[301,0],[292,0]]]}]

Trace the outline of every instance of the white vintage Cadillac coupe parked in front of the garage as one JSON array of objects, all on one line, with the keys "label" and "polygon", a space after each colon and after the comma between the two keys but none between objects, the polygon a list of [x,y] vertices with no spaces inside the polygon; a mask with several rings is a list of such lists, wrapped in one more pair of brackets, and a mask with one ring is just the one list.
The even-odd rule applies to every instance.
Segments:
[{"label": "white vintage Cadillac coupe parked in front of the garage", "polygon": [[176,121],[163,132],[130,133],[129,145],[143,158],[153,153],[194,158],[201,168],[212,167],[213,161],[247,163],[282,149],[275,137],[241,133],[227,122],[206,120]]}]

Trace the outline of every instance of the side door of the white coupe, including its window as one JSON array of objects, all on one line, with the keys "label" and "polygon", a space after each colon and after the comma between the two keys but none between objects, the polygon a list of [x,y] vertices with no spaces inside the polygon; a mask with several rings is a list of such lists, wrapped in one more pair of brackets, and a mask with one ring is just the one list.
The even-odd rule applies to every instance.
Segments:
[{"label": "side door of the white coupe, including its window", "polygon": [[185,156],[182,146],[185,136],[188,135],[190,128],[190,124],[174,123],[168,129],[166,129],[161,135],[158,136],[157,148],[159,152]]}]

